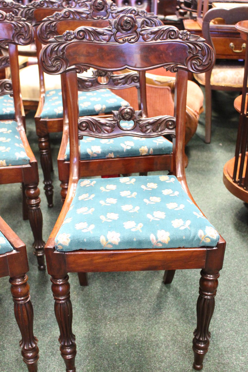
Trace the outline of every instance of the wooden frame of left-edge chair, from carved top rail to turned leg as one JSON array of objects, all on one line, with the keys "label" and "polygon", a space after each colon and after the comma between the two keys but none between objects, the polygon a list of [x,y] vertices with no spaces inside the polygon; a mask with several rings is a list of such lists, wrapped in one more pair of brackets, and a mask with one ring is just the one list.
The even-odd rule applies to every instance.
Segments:
[{"label": "wooden frame of left-edge chair, from carved top rail to turned leg", "polygon": [[38,164],[28,143],[25,133],[25,124],[23,123],[17,50],[17,45],[30,44],[33,41],[34,33],[29,23],[23,21],[21,17],[14,16],[12,13],[6,14],[2,11],[0,11],[0,14],[0,29],[1,35],[3,35],[1,36],[0,42],[8,46],[9,50],[9,63],[12,74],[12,89],[15,106],[15,121],[17,122],[20,138],[26,154],[30,158],[29,164],[0,167],[0,179],[1,184],[22,183],[23,219],[29,219],[30,221],[30,226],[34,236],[34,254],[37,257],[39,269],[44,270],[45,242],[42,240],[42,214],[39,207],[41,199],[39,198],[38,188]]}]

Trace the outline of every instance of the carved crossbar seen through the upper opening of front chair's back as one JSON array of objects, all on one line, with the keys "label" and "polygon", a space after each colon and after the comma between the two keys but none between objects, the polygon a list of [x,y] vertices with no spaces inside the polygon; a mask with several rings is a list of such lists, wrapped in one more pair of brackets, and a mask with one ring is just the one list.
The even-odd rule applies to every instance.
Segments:
[{"label": "carved crossbar seen through the upper opening of front chair's back", "polygon": [[[99,80],[100,77],[106,79],[105,82]],[[139,74],[136,72],[128,72],[125,74],[113,74],[112,71],[94,70],[93,76],[84,77],[78,76],[78,90],[96,90],[100,88],[109,89],[124,89],[129,87],[139,87]]]}]

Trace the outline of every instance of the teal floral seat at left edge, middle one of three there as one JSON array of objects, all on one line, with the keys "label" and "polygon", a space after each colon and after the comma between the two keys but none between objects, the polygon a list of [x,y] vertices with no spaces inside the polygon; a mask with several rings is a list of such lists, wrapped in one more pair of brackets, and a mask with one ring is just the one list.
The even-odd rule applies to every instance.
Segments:
[{"label": "teal floral seat at left edge, middle one of three there", "polygon": [[0,121],[0,167],[29,164],[16,121]]}]

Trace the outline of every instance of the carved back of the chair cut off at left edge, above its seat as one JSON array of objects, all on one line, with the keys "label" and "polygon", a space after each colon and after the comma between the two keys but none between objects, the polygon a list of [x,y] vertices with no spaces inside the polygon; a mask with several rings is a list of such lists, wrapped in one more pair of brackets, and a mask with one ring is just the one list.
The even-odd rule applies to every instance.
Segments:
[{"label": "carved back of the chair cut off at left edge, above its seat", "polygon": [[20,93],[19,63],[17,45],[28,45],[34,40],[32,26],[20,16],[0,10],[0,44],[8,47],[9,55],[0,58],[0,68],[10,66],[11,79],[0,81],[0,96],[12,94],[15,106],[15,119],[22,122],[22,103]]}]

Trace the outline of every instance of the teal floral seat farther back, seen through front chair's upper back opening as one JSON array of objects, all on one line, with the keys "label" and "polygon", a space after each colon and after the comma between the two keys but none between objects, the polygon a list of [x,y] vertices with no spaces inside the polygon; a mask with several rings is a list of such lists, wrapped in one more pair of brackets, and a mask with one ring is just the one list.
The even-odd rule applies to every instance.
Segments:
[{"label": "teal floral seat farther back, seen through front chair's upper back opening", "polygon": [[[99,89],[93,92],[78,91],[79,116],[111,112],[112,110],[119,110],[121,106],[129,106],[129,103],[109,89]],[[62,92],[60,89],[49,90],[45,94],[41,118],[56,119],[62,117]]]}]

